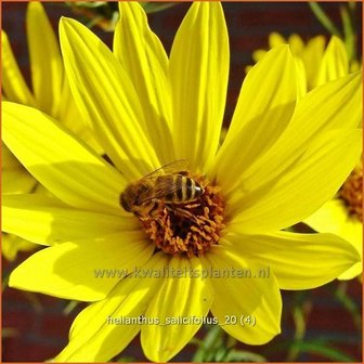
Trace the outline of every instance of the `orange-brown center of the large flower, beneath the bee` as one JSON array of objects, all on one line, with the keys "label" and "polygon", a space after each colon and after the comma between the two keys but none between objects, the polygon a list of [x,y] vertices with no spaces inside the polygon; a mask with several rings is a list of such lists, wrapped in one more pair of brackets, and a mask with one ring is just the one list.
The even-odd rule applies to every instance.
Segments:
[{"label": "orange-brown center of the large flower, beneath the bee", "polygon": [[219,186],[199,176],[188,178],[204,186],[199,197],[187,203],[160,200],[154,218],[140,221],[157,250],[191,258],[204,255],[218,244],[224,227],[224,202]]}]

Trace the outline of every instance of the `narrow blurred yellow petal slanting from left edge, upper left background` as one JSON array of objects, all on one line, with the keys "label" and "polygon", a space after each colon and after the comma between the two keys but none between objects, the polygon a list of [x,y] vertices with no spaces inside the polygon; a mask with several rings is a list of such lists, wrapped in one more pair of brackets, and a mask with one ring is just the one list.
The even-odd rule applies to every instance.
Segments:
[{"label": "narrow blurred yellow petal slanting from left edge, upper left background", "polygon": [[17,67],[6,34],[1,30],[2,89],[9,101],[34,106],[35,99]]}]

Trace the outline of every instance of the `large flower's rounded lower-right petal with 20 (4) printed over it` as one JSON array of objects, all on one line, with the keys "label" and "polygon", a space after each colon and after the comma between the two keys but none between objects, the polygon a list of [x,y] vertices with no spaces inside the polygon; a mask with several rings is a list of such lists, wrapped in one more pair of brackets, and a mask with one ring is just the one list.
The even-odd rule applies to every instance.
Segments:
[{"label": "large flower's rounded lower-right petal with 20 (4) printed over it", "polygon": [[[273,274],[264,278],[257,275],[260,269],[266,269],[265,263],[260,266],[222,246],[214,246],[203,261],[204,266],[217,272],[213,274],[231,272],[230,276],[208,278],[214,291],[211,312],[221,328],[249,344],[265,343],[281,333],[282,300],[276,280]],[[251,276],[245,276],[249,270]]]}]

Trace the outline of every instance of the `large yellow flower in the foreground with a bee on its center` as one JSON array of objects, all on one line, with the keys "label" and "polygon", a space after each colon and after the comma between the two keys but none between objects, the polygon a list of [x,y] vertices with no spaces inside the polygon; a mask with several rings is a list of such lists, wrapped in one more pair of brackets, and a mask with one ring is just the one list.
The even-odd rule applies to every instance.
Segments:
[{"label": "large yellow flower in the foreground with a bee on its center", "polygon": [[[361,75],[298,101],[296,63],[274,48],[244,80],[219,146],[229,77],[221,4],[192,3],[169,57],[142,8],[119,6],[114,53],[78,22],[61,22],[75,100],[112,164],[50,116],[3,103],[6,146],[60,198],[4,196],[3,230],[50,246],[10,285],[93,302],[57,362],[110,360],[138,333],[147,359],[165,362],[209,312],[236,339],[268,342],[281,330],[280,288],[317,287],[360,259],[338,236],[281,230],[332,198],[359,159]],[[198,198],[159,196],[151,218],[120,206],[130,183],[180,159],[190,167],[174,177],[202,185]]]}]

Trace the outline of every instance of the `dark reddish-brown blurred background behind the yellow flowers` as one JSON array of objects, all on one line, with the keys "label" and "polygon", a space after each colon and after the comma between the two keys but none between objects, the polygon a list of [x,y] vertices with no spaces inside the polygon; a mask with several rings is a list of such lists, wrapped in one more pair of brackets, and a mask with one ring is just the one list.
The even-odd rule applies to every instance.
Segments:
[{"label": "dark reddish-brown blurred background behind the yellow flowers", "polygon": [[[17,62],[27,80],[29,80],[29,64],[25,34],[26,3],[3,2],[2,26],[6,31]],[[361,4],[358,4],[361,6]],[[168,10],[150,14],[150,24],[159,36],[169,52],[176,30],[181,23],[188,3],[181,3]],[[330,15],[336,25],[340,25],[340,3],[322,3],[322,6]],[[61,3],[44,3],[48,15],[56,31],[58,20],[62,15],[74,16],[73,13]],[[223,3],[231,48],[231,70],[225,112],[225,125],[232,116],[238,91],[245,76],[245,67],[252,64],[251,52],[264,49],[268,46],[268,35],[278,31],[284,36],[292,32],[299,34],[303,40],[323,34],[329,39],[328,32],[316,21],[306,2],[244,2]],[[362,12],[359,11],[358,14]],[[361,29],[361,20],[358,20],[358,29]],[[113,34],[93,29],[108,46],[112,44]],[[361,35],[361,30],[359,30]],[[358,44],[361,44],[359,39]],[[361,54],[361,50],[359,50]],[[262,84],[263,87],[263,84]],[[259,95],[257,95],[259,98]],[[16,262],[3,261],[3,277],[26,259],[22,253]],[[321,288],[303,292],[283,291],[283,324],[282,335],[262,347],[248,347],[239,344],[239,348],[260,353],[269,361],[285,361],[287,348],[291,344],[295,334],[292,321],[292,307],[306,304],[308,312],[307,340],[317,340],[330,336],[333,348],[338,348],[354,361],[361,361],[361,334],[351,314],[339,303],[335,296],[339,287],[338,282],[333,282]],[[342,288],[342,287],[341,287]],[[349,283],[348,296],[359,306],[361,311],[361,285],[354,280]],[[70,324],[84,304],[77,307],[69,315],[63,314],[68,302],[43,295],[29,295],[12,288],[5,288],[2,296],[2,327],[3,332],[3,361],[44,361],[57,354],[67,343]],[[11,329],[11,330],[9,330]],[[200,329],[199,337],[204,337],[205,330]],[[190,361],[195,347],[187,346],[174,361]],[[135,361],[146,361],[140,348],[139,337],[122,352],[122,356],[132,356]],[[329,361],[318,353],[302,353],[298,361]]]}]

